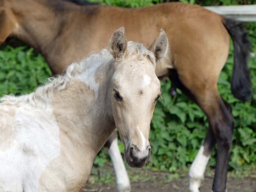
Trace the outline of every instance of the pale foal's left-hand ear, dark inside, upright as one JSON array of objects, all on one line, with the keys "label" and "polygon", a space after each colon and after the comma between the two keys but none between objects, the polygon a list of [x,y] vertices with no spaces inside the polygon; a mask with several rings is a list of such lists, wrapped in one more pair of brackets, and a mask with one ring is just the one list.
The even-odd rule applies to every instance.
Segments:
[{"label": "pale foal's left-hand ear, dark inside, upright", "polygon": [[124,27],[121,27],[114,32],[110,39],[109,46],[114,59],[121,59],[127,47]]}]

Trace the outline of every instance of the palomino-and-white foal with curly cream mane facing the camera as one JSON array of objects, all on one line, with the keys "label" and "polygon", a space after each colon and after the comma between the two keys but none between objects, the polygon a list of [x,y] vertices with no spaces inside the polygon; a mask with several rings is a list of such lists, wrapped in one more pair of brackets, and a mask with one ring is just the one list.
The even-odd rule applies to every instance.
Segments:
[{"label": "palomino-and-white foal with curly cream mane facing the camera", "polygon": [[114,128],[132,167],[150,156],[148,135],[165,56],[163,30],[147,50],[117,30],[109,49],[70,65],[35,92],[0,104],[0,191],[80,191]]}]

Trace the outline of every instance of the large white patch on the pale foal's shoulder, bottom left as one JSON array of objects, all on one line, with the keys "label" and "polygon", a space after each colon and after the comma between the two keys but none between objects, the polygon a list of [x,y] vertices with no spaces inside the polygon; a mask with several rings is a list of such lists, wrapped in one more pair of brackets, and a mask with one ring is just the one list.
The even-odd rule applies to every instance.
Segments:
[{"label": "large white patch on the pale foal's shoulder, bottom left", "polygon": [[0,151],[0,191],[37,191],[47,164],[60,155],[58,124],[49,105],[19,107],[10,121],[16,137],[9,149]]}]

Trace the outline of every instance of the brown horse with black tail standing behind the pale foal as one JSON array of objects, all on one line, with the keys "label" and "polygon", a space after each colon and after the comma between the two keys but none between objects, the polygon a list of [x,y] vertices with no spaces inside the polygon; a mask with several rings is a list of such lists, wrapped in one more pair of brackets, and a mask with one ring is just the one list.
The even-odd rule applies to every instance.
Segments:
[{"label": "brown horse with black tail standing behind the pale foal", "polygon": [[[225,191],[234,120],[229,104],[219,95],[217,80],[228,56],[229,34],[234,42],[232,92],[243,101],[252,94],[246,62],[248,40],[238,23],[183,3],[138,9],[78,6],[59,0],[2,0],[0,3],[3,7],[0,41],[12,34],[37,48],[53,73],[62,72],[84,53],[105,47],[107,37],[120,26],[126,28],[128,39],[145,45],[163,28],[169,38],[170,52],[156,67],[156,74],[159,78],[169,76],[174,80],[172,90],[179,87],[201,107],[209,121],[204,144],[190,168],[190,191],[198,192],[216,142],[217,165],[212,189]],[[116,154],[112,152],[113,159]],[[120,157],[119,153],[117,155]],[[123,167],[115,169],[118,173]],[[120,176],[118,186],[125,180],[118,181]],[[128,184],[124,184],[124,189]]]}]

